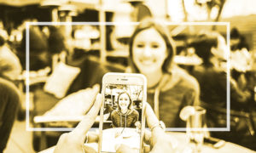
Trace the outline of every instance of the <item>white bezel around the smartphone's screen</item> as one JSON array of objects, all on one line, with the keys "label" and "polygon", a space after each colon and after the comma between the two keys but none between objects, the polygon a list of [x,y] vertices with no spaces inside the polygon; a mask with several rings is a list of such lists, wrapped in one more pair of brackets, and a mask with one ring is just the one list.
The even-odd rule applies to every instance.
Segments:
[{"label": "white bezel around the smartphone's screen", "polygon": [[102,127],[103,127],[103,106],[105,101],[105,88],[107,84],[130,84],[130,85],[143,85],[143,111],[142,111],[142,127],[140,135],[140,153],[143,153],[143,137],[145,130],[145,102],[147,100],[147,79],[142,74],[137,73],[115,73],[108,72],[102,78],[102,106],[101,106],[101,119],[99,131],[98,152],[102,152]]}]

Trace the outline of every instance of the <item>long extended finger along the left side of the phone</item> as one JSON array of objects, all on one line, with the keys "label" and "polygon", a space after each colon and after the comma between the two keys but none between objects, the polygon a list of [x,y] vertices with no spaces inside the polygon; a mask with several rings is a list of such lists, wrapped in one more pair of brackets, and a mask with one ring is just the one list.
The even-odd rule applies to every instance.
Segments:
[{"label": "long extended finger along the left side of the phone", "polygon": [[100,111],[100,107],[102,105],[102,95],[97,94],[96,101],[94,105],[91,107],[90,111],[84,116],[84,119],[79,122],[79,125],[73,129],[71,134],[79,139],[82,143],[84,143],[84,139],[86,133],[89,131],[92,124],[95,122],[96,116]]}]

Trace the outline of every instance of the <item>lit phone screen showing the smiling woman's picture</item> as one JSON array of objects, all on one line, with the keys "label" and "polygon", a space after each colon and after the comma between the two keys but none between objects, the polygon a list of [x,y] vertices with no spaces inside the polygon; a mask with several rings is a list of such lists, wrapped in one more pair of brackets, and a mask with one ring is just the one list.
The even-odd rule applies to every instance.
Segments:
[{"label": "lit phone screen showing the smiling woman's picture", "polygon": [[115,152],[125,144],[140,151],[143,125],[143,85],[106,84],[101,152]]}]

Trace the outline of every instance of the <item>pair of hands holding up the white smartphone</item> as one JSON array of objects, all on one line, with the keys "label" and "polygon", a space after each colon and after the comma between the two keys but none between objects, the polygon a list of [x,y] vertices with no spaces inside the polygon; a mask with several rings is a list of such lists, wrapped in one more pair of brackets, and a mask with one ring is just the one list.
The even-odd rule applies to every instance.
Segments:
[{"label": "pair of hands holding up the white smartphone", "polygon": [[[92,153],[96,150],[85,146],[84,141],[86,139],[86,134],[90,130],[90,127],[95,122],[96,116],[100,111],[102,105],[102,95],[97,94],[96,99],[91,101],[93,105],[90,111],[84,116],[84,119],[79,122],[79,125],[73,129],[70,133],[63,133],[55,146],[55,153],[65,153],[65,152],[75,152],[75,153]],[[144,152],[172,152],[172,140],[168,138],[164,130],[155,125],[159,124],[159,120],[154,115],[154,111],[150,105],[146,105],[146,120],[148,127],[151,129],[154,127],[152,132],[145,130],[144,142],[149,144],[144,147]],[[88,143],[98,142],[99,135],[97,133],[88,133]],[[116,152],[118,153],[132,153],[137,152],[136,149],[132,149],[125,144],[119,144],[116,146]]]}]

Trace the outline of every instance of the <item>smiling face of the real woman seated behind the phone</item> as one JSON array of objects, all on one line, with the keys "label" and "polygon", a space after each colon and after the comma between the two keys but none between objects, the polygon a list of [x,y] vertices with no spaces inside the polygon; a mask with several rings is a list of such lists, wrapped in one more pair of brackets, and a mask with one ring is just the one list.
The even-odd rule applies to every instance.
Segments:
[{"label": "smiling face of the real woman seated behind the phone", "polygon": [[160,70],[166,57],[166,42],[154,28],[140,31],[132,45],[132,59],[142,73]]}]

